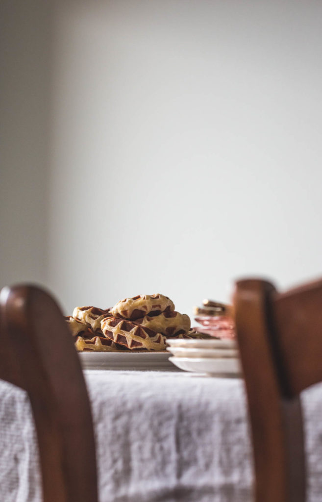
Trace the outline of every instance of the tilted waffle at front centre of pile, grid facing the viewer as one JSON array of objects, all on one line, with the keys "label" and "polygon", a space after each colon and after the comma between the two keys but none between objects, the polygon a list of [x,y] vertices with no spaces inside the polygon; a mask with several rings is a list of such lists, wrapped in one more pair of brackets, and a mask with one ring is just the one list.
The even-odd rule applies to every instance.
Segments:
[{"label": "tilted waffle at front centre of pile, grid facing the viewer", "polygon": [[165,350],[165,337],[132,321],[109,317],[102,320],[104,336],[131,350]]}]

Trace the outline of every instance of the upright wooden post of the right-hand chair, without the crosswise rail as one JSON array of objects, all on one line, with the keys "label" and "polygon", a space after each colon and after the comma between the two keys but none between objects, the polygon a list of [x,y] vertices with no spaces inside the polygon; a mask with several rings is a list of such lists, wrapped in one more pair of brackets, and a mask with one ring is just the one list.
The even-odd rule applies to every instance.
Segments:
[{"label": "upright wooden post of the right-hand chair, without the crosswise rail", "polygon": [[305,465],[299,396],[290,396],[274,325],[277,294],[245,280],[234,297],[255,467],[256,502],[304,502]]}]

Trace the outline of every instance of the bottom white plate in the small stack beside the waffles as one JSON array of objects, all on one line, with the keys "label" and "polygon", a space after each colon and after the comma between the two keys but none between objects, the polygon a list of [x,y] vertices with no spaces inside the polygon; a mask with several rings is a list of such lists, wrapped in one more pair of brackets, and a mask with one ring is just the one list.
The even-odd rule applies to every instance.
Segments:
[{"label": "bottom white plate in the small stack beside the waffles", "polygon": [[178,368],[197,373],[208,373],[217,376],[240,376],[241,367],[237,358],[194,358],[170,357]]}]

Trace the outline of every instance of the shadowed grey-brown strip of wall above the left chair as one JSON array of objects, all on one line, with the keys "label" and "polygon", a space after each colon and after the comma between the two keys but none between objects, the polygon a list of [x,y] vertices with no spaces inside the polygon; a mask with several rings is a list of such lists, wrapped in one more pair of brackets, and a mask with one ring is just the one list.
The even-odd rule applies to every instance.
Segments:
[{"label": "shadowed grey-brown strip of wall above the left chair", "polygon": [[48,279],[49,14],[1,2],[0,288]]}]

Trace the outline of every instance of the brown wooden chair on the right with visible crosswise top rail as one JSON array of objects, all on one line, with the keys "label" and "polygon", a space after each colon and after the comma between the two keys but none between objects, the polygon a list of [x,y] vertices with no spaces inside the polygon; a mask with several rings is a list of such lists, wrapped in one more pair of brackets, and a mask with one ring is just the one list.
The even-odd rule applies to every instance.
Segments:
[{"label": "brown wooden chair on the right with visible crosswise top rail", "polygon": [[239,281],[234,308],[256,502],[304,502],[299,395],[322,381],[322,280],[284,294],[266,281]]}]

